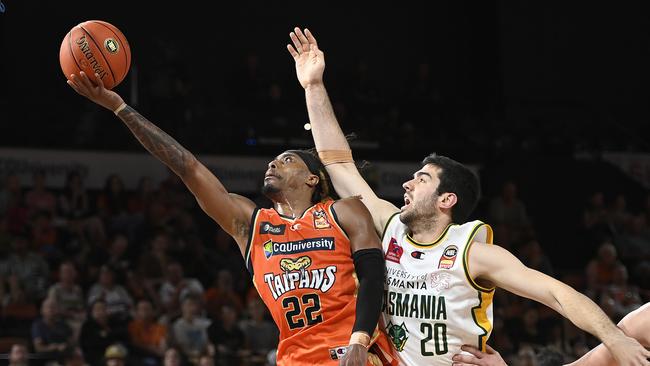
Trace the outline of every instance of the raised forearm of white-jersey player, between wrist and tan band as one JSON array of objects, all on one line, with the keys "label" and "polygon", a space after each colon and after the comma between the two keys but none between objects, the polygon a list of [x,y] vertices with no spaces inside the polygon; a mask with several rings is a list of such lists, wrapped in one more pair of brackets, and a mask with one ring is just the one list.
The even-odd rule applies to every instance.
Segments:
[{"label": "raised forearm of white-jersey player, between wrist and tan band", "polygon": [[316,149],[349,150],[350,145],[336,120],[325,85],[309,85],[305,88],[305,98]]}]

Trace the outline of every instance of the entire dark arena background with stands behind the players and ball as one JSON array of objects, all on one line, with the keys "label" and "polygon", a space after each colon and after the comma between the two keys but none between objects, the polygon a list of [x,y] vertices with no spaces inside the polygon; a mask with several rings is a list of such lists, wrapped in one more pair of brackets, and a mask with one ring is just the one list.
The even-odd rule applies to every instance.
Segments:
[{"label": "entire dark arena background with stands behind the players and ball", "polygon": [[[131,46],[115,91],[231,192],[268,206],[267,162],[313,146],[286,49],[293,27],[308,27],[339,122],[380,196],[402,206],[401,183],[419,162],[449,156],[481,178],[472,219],[524,264],[614,322],[650,301],[647,4],[2,5],[0,362],[24,344],[34,365],[103,365],[109,355],[174,365],[174,352],[198,364],[204,350],[176,344],[187,336],[175,325],[179,302],[191,295],[215,349],[201,365],[273,364],[277,330],[234,241],[110,111],[66,85],[61,40],[92,19]],[[72,197],[85,203],[72,210]],[[106,309],[94,309],[98,297]],[[95,320],[101,311],[110,325]],[[147,317],[160,324],[155,334],[138,328]],[[143,350],[143,339],[157,348]],[[575,360],[599,341],[497,290],[488,343],[509,365],[536,365],[552,350]]]}]

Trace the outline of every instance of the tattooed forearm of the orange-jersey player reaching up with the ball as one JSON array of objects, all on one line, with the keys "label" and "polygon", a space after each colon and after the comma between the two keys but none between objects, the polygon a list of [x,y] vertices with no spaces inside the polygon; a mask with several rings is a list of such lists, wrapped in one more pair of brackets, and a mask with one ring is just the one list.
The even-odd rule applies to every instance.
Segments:
[{"label": "tattooed forearm of the orange-jersey player reaching up with the ball", "polygon": [[178,141],[166,134],[130,106],[118,113],[118,117],[131,130],[149,152],[167,165],[174,173],[183,177],[196,158]]}]

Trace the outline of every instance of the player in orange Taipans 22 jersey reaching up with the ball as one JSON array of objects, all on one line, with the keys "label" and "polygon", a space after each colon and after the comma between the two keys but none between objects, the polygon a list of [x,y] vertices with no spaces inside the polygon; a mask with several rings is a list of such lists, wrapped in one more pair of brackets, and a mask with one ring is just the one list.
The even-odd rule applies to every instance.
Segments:
[{"label": "player in orange Taipans 22 jersey reaching up with the ball", "polygon": [[[83,72],[68,84],[113,111],[172,169],[199,205],[239,245],[253,283],[280,329],[278,365],[389,364],[376,332],[384,259],[370,213],[358,199],[333,201],[315,155],[286,151],[268,164],[263,193],[273,208],[228,193],[197,158]],[[358,288],[355,282],[358,280]],[[373,353],[368,352],[370,351]]]}]

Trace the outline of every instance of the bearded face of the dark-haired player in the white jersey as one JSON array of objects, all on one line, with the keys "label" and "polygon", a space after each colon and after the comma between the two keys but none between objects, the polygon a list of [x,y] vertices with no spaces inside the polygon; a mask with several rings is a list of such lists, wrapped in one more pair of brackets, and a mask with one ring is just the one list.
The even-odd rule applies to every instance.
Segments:
[{"label": "bearded face of the dark-haired player in the white jersey", "polygon": [[400,219],[408,224],[421,217],[432,217],[437,212],[438,173],[440,168],[427,164],[413,174],[404,184],[404,206],[401,208]]}]

